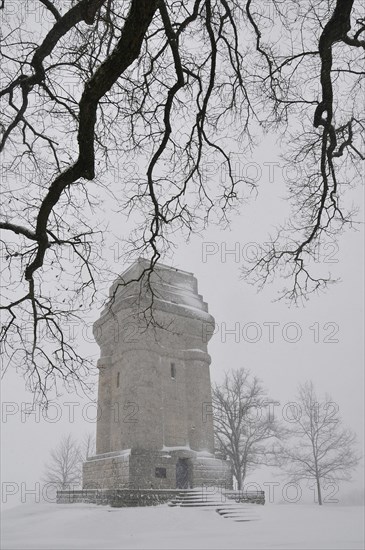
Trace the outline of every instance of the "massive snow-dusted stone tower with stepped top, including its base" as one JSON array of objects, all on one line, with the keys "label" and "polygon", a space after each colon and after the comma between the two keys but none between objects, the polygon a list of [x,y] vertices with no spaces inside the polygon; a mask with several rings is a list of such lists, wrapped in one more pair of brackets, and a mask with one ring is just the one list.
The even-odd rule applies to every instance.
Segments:
[{"label": "massive snow-dusted stone tower with stepped top, including its base", "polygon": [[193,274],[139,259],[110,288],[94,324],[96,456],[84,488],[231,486],[214,457],[207,342],[214,319]]}]

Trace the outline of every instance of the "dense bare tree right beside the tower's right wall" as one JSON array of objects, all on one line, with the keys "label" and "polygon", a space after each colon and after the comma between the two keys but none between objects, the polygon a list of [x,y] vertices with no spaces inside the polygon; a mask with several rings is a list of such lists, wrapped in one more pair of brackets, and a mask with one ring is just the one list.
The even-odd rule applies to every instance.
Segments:
[{"label": "dense bare tree right beside the tower's right wall", "polygon": [[241,368],[213,386],[212,402],[217,451],[230,460],[241,490],[250,471],[272,462],[268,442],[281,434],[272,401],[262,383]]}]

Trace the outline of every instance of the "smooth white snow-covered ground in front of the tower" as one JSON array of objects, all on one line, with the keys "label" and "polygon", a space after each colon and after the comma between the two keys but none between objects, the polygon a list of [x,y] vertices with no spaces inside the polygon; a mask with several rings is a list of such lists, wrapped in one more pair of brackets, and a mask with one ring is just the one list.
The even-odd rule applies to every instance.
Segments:
[{"label": "smooth white snow-covered ground in front of the tower", "polygon": [[268,504],[255,511],[258,521],[235,523],[211,509],[168,505],[23,504],[3,513],[1,548],[364,548],[362,506]]}]

